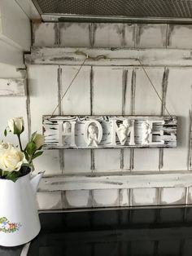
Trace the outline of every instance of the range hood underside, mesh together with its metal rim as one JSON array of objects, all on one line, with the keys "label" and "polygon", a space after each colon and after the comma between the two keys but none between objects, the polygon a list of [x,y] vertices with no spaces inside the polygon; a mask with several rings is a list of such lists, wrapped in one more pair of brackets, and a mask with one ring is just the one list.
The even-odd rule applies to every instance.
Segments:
[{"label": "range hood underside, mesh together with its metal rim", "polygon": [[188,22],[192,0],[33,0],[43,20]]}]

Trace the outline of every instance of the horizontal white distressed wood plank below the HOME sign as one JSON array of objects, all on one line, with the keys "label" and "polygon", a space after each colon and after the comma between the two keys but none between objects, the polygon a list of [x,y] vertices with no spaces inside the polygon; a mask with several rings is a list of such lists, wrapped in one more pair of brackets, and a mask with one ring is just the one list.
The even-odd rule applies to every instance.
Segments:
[{"label": "horizontal white distressed wood plank below the HOME sign", "polygon": [[[104,171],[103,174],[106,174]],[[94,176],[65,175],[43,178],[40,183],[40,192],[54,192],[67,190],[89,189],[122,189],[122,188],[187,188],[192,187],[190,172],[153,173],[124,175],[117,172],[109,175],[94,174]]]}]

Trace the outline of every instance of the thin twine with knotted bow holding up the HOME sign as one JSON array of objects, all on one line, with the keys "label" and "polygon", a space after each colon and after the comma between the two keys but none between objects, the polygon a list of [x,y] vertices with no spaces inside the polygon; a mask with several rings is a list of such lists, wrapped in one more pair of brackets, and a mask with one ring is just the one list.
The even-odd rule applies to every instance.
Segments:
[{"label": "thin twine with knotted bow holding up the HOME sign", "polygon": [[[72,86],[72,83],[75,81],[77,75],[80,73],[81,68],[84,66],[86,60],[102,60],[102,59],[107,59],[107,56],[106,56],[106,55],[97,55],[96,57],[94,57],[94,56],[90,56],[90,55],[86,54],[84,51],[75,51],[75,54],[76,54],[76,55],[85,56],[85,60],[83,60],[83,62],[82,62],[82,64],[81,64],[80,68],[77,70],[75,76],[72,78],[72,82],[70,82],[68,88],[67,88],[67,89],[65,90],[65,92],[63,93],[63,95],[62,95],[62,97],[61,97],[61,99],[60,99],[60,101],[59,101],[59,104],[61,104],[61,102],[62,102],[64,96],[68,93],[68,90],[69,90],[70,87]],[[139,59],[139,56],[138,56],[138,58],[137,58],[137,61],[139,62],[140,66],[142,67],[142,70],[144,71],[144,73],[146,74],[146,77],[148,78],[148,80],[149,80],[149,82],[150,82],[152,88],[155,90],[155,93],[156,93],[156,95],[158,96],[158,98],[159,98],[161,104],[164,104],[164,101],[163,101],[163,99],[161,99],[161,97],[160,97],[158,91],[156,90],[156,88],[155,88],[153,82],[151,81],[151,78],[149,77],[148,73],[146,73],[146,69],[143,67],[142,62],[141,62],[141,60]],[[57,108],[59,108],[59,104],[57,104],[57,106],[55,107],[53,113],[50,115],[50,118],[54,116],[55,111],[57,110]],[[169,115],[170,117],[172,117],[172,115],[169,113],[168,108],[166,108],[166,106],[164,106],[164,109],[167,111],[168,115]]]}]

